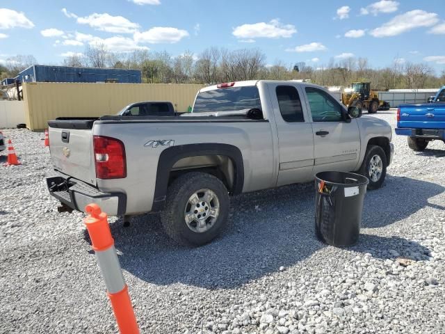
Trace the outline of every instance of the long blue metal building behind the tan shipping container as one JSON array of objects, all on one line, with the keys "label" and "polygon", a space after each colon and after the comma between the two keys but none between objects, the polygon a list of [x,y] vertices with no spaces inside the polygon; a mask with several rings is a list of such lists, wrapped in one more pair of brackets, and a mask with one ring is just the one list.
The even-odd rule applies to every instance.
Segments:
[{"label": "long blue metal building behind the tan shipping container", "polygon": [[140,70],[120,68],[33,65],[14,79],[20,82],[106,82],[140,84]]}]

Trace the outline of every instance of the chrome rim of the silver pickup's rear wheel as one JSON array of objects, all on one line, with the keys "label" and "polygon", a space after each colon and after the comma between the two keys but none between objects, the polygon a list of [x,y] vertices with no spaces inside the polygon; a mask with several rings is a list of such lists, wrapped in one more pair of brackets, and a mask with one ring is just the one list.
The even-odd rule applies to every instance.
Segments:
[{"label": "chrome rim of the silver pickup's rear wheel", "polygon": [[219,213],[220,201],[216,193],[210,189],[200,189],[188,198],[184,218],[190,230],[203,233],[213,227]]}]

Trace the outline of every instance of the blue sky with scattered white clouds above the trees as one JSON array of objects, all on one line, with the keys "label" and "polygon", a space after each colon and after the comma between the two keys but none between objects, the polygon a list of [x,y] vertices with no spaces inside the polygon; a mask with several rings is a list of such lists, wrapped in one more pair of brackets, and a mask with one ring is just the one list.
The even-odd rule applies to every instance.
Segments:
[{"label": "blue sky with scattered white clouds above the trees", "polygon": [[[63,9],[65,8],[65,9]],[[0,62],[33,54],[57,64],[86,45],[110,51],[195,54],[210,46],[258,47],[266,63],[366,57],[373,67],[394,58],[445,70],[443,0],[204,1],[1,0]]]}]

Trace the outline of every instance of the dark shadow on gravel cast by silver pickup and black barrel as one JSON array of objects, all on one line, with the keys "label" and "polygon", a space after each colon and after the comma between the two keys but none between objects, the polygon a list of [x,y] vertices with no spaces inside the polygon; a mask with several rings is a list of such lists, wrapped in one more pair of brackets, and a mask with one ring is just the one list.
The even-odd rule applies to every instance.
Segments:
[{"label": "dark shadow on gravel cast by silver pickup and black barrel", "polygon": [[[378,228],[406,218],[443,190],[429,182],[388,177],[387,186],[366,196],[363,225]],[[236,196],[227,230],[199,248],[177,246],[165,235],[155,214],[133,218],[130,228],[122,228],[118,219],[111,229],[122,268],[156,285],[232,289],[280,267],[291,267],[326,247],[314,234],[313,184]],[[412,260],[426,260],[429,253],[414,241],[371,234],[361,234],[356,246],[338,251],[345,250],[381,259],[391,258],[387,250]]]}]

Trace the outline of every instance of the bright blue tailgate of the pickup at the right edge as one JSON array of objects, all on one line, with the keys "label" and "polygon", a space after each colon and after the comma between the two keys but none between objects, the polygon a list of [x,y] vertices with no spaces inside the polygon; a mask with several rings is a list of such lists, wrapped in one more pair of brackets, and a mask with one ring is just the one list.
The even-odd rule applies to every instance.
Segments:
[{"label": "bright blue tailgate of the pickup at the right edge", "polygon": [[445,103],[402,104],[398,127],[445,129]]}]

